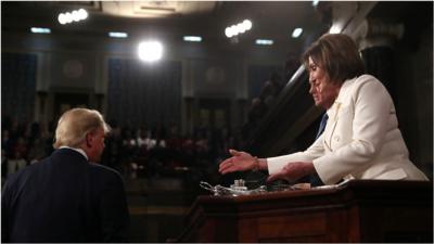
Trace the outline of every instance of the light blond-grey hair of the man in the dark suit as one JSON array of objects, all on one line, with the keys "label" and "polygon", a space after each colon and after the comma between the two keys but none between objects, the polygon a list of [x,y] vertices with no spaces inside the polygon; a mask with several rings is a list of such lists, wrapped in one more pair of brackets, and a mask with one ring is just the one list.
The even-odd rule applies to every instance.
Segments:
[{"label": "light blond-grey hair of the man in the dark suit", "polygon": [[60,146],[78,147],[85,141],[86,134],[103,128],[108,133],[111,128],[104,121],[100,112],[88,108],[72,108],[65,112],[58,121],[54,149]]}]

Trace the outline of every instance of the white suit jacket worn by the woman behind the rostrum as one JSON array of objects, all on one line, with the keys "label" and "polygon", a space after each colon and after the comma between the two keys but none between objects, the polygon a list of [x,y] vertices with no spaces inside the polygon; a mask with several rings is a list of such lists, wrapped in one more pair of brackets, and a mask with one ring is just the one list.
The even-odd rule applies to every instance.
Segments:
[{"label": "white suit jacket worn by the woman behind the rostrum", "polygon": [[409,160],[392,98],[375,77],[346,80],[327,114],[324,132],[305,152],[267,158],[269,174],[291,162],[312,162],[324,184],[343,178],[427,180]]}]

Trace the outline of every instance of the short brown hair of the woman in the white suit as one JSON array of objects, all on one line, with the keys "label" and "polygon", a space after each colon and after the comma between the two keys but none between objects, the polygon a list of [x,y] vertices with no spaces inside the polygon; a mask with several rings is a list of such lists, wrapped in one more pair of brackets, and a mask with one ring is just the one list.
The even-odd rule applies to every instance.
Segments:
[{"label": "short brown hair of the woman in the white suit", "polygon": [[357,44],[345,34],[326,34],[314,42],[302,56],[307,69],[309,56],[334,82],[344,82],[365,73]]}]

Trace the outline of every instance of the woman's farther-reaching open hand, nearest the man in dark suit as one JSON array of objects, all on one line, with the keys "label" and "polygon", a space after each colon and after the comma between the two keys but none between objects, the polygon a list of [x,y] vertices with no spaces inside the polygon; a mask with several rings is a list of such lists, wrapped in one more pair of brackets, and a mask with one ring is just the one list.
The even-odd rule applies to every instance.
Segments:
[{"label": "woman's farther-reaching open hand, nearest the man in dark suit", "polygon": [[229,150],[232,155],[228,159],[221,162],[218,171],[222,175],[233,171],[245,171],[257,167],[257,158],[245,152]]}]

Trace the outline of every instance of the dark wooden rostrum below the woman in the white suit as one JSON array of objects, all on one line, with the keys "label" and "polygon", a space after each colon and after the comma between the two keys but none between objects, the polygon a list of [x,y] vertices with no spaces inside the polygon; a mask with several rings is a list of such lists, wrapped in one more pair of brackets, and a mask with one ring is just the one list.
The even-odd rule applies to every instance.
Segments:
[{"label": "dark wooden rostrum below the woman in the white suit", "polygon": [[199,196],[178,242],[433,242],[433,182]]}]

